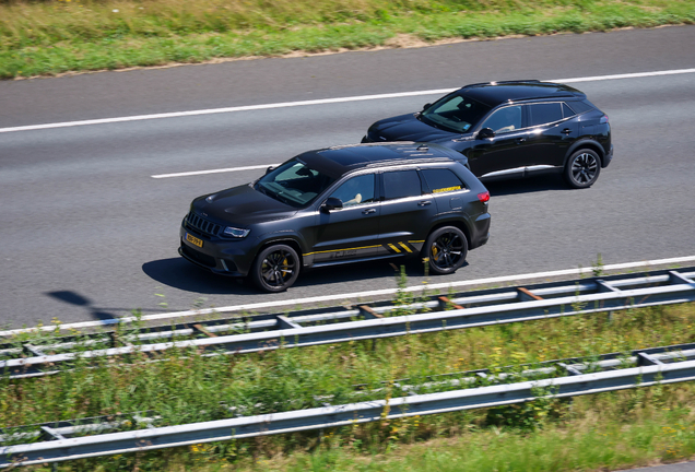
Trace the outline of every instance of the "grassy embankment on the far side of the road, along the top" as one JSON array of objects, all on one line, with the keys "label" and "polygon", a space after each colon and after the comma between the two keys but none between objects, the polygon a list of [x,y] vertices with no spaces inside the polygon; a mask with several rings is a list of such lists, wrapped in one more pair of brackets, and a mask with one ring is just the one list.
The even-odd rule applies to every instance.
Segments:
[{"label": "grassy embankment on the far side of the road, along the top", "polygon": [[692,0],[0,0],[0,78],[693,22]]}]

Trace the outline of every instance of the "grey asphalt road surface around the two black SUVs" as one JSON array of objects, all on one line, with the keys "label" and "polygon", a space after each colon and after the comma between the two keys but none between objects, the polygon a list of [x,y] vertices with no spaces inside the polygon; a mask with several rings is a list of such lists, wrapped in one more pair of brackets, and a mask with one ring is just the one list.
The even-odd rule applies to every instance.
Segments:
[{"label": "grey asphalt road surface around the two black SUVs", "polygon": [[[0,83],[0,324],[17,328],[191,306],[396,286],[388,263],[323,269],[260,294],[177,253],[197,196],[358,142],[437,95],[7,131],[148,114],[695,68],[695,26],[467,42]],[[610,116],[615,157],[587,190],[557,178],[490,185],[492,237],[433,282],[695,255],[695,73],[574,83]],[[440,94],[439,94],[440,95]],[[2,132],[5,130],[5,132]],[[409,264],[410,283],[422,270]],[[164,296],[161,296],[164,295]]]}]

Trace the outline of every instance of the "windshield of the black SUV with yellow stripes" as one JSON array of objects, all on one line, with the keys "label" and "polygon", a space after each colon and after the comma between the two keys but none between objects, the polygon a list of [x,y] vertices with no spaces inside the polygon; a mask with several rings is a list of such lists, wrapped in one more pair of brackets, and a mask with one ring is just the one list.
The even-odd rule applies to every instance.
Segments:
[{"label": "windshield of the black SUV with yellow stripes", "polygon": [[311,203],[334,179],[291,160],[261,177],[254,188],[292,206]]}]

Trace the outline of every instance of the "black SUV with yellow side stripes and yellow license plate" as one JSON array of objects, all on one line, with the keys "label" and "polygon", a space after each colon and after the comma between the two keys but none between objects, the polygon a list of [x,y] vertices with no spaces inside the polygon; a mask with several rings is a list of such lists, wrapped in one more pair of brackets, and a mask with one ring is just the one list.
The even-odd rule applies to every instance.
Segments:
[{"label": "black SUV with yellow side stripes and yellow license plate", "polygon": [[267,292],[286,290],[307,268],[374,259],[420,256],[432,272],[451,273],[490,228],[490,193],[460,160],[413,142],[299,154],[193,200],[179,253]]}]

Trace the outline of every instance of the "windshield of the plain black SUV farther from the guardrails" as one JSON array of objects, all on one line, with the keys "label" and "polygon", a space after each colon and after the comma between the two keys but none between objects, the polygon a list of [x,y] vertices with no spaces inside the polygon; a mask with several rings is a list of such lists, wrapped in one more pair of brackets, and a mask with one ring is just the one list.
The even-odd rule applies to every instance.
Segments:
[{"label": "windshield of the plain black SUV farther from the guardrails", "polygon": [[446,131],[466,133],[491,107],[461,95],[447,95],[423,110],[419,119]]}]

